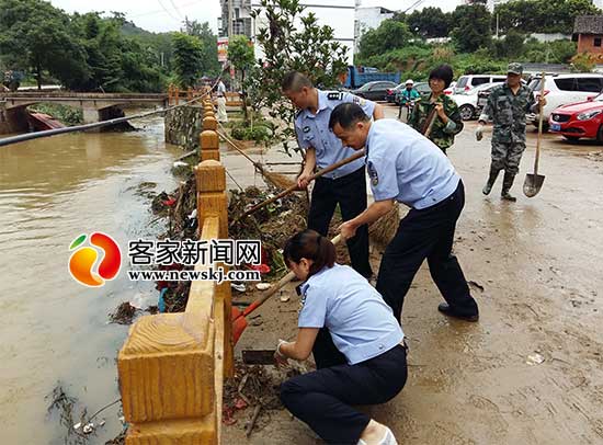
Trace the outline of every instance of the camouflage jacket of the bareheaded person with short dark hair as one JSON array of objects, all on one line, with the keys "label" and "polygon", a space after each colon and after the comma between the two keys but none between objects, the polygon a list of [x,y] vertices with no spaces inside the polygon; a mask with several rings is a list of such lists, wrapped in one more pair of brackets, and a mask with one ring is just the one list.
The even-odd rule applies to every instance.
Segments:
[{"label": "camouflage jacket of the bareheaded person with short dark hair", "polygon": [[435,116],[435,122],[431,128],[429,138],[442,151],[446,152],[446,148],[454,144],[455,135],[463,130],[463,119],[458,112],[456,102],[445,94],[441,94],[434,103],[430,103],[431,93],[423,94],[419,101],[414,104],[414,110],[408,119],[408,125],[414,128],[417,132],[422,133],[425,126],[426,119],[431,111],[435,107],[436,103],[444,105],[444,113],[448,116],[448,123],[444,124],[440,116]]}]

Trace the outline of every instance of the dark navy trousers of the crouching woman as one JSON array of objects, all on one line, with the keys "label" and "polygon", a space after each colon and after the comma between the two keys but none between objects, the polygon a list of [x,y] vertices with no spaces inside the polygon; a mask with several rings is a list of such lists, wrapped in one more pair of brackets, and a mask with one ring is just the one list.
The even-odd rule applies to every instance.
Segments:
[{"label": "dark navy trousers of the crouching woman", "polygon": [[355,365],[343,363],[293,377],[281,385],[281,400],[328,444],[355,445],[371,418],[352,406],[385,403],[406,380],[406,349],[397,345]]}]

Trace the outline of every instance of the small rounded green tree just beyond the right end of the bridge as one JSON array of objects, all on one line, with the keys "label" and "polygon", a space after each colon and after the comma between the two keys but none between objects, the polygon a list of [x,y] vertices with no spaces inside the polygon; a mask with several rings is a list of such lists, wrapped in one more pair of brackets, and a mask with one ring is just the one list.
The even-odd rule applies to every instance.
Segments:
[{"label": "small rounded green tree just beyond the right end of the bridge", "polygon": [[173,33],[173,47],[177,82],[182,88],[193,87],[203,69],[203,44],[198,37]]}]

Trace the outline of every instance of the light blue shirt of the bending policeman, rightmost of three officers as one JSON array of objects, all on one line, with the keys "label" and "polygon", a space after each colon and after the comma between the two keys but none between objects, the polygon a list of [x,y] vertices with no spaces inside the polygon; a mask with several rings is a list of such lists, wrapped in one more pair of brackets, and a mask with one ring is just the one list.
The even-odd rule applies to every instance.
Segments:
[{"label": "light blue shirt of the bending policeman, rightmost of three officers", "polygon": [[396,119],[371,125],[366,151],[375,201],[395,198],[409,207],[426,208],[452,195],[460,181],[435,144]]}]

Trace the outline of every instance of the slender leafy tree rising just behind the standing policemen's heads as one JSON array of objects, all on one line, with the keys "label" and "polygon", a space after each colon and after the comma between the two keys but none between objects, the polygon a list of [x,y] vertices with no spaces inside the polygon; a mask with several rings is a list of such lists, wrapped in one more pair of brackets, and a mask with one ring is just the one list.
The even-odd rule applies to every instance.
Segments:
[{"label": "slender leafy tree rising just behind the standing policemen's heads", "polygon": [[[274,138],[282,140],[289,152],[295,110],[281,92],[284,76],[297,70],[316,85],[334,87],[346,70],[346,49],[334,41],[330,26],[319,26],[312,13],[304,14],[298,0],[261,0],[261,7],[252,15],[265,16],[266,25],[260,26],[257,35],[257,45],[264,56],[248,77],[247,90],[255,110],[270,110],[278,128]],[[300,30],[295,25],[298,21]]]}]

